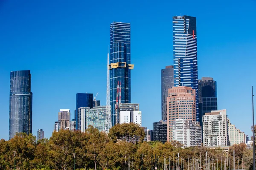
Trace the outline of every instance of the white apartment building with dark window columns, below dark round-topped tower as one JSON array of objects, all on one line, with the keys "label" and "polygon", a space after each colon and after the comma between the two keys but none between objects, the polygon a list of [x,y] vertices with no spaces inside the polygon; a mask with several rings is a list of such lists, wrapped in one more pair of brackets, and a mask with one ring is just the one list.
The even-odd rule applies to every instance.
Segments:
[{"label": "white apartment building with dark window columns, below dark round-topped tower", "polygon": [[203,116],[204,146],[229,146],[227,111],[211,111]]}]

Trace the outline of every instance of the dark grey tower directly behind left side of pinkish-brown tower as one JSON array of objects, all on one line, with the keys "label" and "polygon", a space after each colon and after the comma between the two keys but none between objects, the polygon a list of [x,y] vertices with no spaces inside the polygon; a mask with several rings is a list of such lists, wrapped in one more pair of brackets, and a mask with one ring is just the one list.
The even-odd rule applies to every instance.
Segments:
[{"label": "dark grey tower directly behind left side of pinkish-brown tower", "polygon": [[167,120],[168,89],[174,86],[173,65],[166,66],[161,70],[161,103],[162,103],[162,120]]}]

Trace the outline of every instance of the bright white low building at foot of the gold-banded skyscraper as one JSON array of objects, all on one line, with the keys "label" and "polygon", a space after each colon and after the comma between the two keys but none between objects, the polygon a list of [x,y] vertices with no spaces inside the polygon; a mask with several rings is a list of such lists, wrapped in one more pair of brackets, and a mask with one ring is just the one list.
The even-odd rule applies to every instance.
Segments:
[{"label": "bright white low building at foot of the gold-banded skyscraper", "polygon": [[137,123],[141,127],[141,111],[120,111],[119,123]]}]

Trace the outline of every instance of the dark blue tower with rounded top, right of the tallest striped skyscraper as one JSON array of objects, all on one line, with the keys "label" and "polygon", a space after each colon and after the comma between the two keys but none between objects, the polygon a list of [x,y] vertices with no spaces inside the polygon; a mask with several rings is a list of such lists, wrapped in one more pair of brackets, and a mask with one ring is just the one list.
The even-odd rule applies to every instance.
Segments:
[{"label": "dark blue tower with rounded top, right of the tallest striped skyscraper", "polygon": [[199,122],[203,125],[203,116],[205,113],[217,111],[217,82],[211,77],[202,77],[198,80],[199,97]]}]

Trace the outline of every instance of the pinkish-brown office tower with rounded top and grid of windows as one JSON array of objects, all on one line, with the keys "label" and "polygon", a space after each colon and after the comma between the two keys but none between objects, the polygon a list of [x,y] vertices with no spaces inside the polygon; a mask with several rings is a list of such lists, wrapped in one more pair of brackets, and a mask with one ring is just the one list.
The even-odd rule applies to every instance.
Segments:
[{"label": "pinkish-brown office tower with rounded top and grid of windows", "polygon": [[196,121],[195,89],[191,87],[172,87],[167,97],[167,140],[172,142],[172,123],[176,119]]}]

